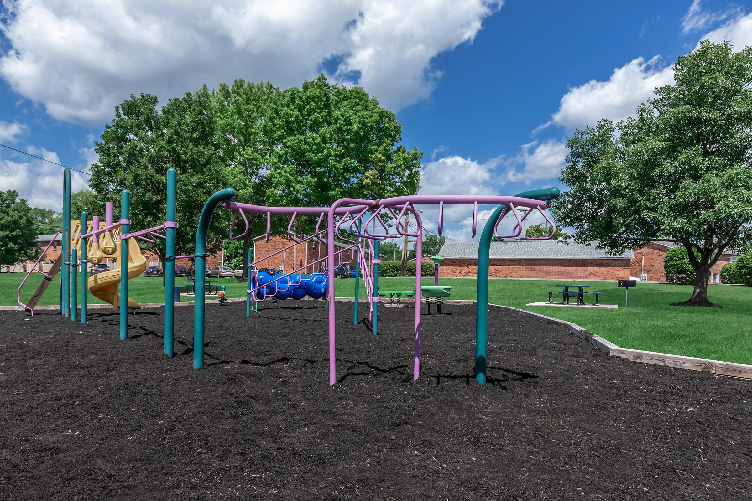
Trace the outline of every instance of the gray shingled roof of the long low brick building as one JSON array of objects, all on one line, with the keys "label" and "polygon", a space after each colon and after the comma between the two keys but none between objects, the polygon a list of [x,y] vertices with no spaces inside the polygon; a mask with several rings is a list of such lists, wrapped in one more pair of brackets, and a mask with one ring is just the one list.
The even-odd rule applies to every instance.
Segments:
[{"label": "gray shingled roof of the long low brick building", "polygon": [[[609,255],[605,250],[596,249],[598,242],[590,246],[578,243],[562,243],[556,240],[526,240],[491,242],[491,258],[587,258],[587,259],[633,259],[630,249],[619,255]],[[443,258],[477,258],[478,242],[447,242],[438,253]]]}]

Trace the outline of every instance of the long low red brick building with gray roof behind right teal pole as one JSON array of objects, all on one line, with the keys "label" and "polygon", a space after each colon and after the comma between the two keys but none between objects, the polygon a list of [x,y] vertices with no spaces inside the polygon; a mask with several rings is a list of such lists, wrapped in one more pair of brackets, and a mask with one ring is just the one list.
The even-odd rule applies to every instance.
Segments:
[{"label": "long low red brick building with gray roof behind right teal pole", "polygon": [[[492,242],[489,276],[516,279],[629,279],[632,251],[608,255],[590,246],[555,240]],[[441,276],[478,276],[478,242],[447,242],[441,247]]]}]

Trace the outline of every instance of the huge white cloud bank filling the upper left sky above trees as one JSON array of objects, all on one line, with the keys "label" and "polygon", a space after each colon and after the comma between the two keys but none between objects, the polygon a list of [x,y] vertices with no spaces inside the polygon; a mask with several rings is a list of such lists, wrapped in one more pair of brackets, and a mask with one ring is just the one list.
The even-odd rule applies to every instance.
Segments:
[{"label": "huge white cloud bank filling the upper left sky above trees", "polygon": [[[4,2],[0,74],[51,116],[102,122],[129,94],[162,101],[235,77],[298,86],[323,64],[399,110],[429,98],[435,56],[472,42],[502,0]],[[54,85],[50,85],[54,82]]]}]

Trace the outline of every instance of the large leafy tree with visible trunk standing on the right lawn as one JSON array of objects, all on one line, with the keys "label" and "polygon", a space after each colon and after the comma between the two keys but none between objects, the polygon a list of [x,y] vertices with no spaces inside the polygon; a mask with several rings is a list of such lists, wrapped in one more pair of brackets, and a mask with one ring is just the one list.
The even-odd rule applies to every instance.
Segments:
[{"label": "large leafy tree with visible trunk standing on the right lawn", "polygon": [[656,238],[687,249],[696,278],[686,306],[708,300],[711,268],[752,246],[752,47],[702,41],[635,117],[575,131],[553,202],[574,240],[623,252]]}]

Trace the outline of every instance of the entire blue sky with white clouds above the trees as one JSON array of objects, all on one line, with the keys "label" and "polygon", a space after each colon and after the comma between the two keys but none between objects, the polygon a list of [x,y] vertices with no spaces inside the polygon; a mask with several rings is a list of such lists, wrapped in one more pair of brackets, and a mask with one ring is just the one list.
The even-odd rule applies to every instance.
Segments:
[{"label": "entire blue sky with white clouds above the trees", "polygon": [[[747,2],[64,3],[0,7],[0,143],[85,171],[130,93],[163,102],[202,83],[287,87],[325,71],[396,111],[405,145],[425,153],[423,193],[559,186],[575,128],[628,116],[702,38],[752,44]],[[57,209],[60,180],[56,165],[0,148],[0,189]],[[470,238],[466,209],[446,217],[448,237]]]}]

